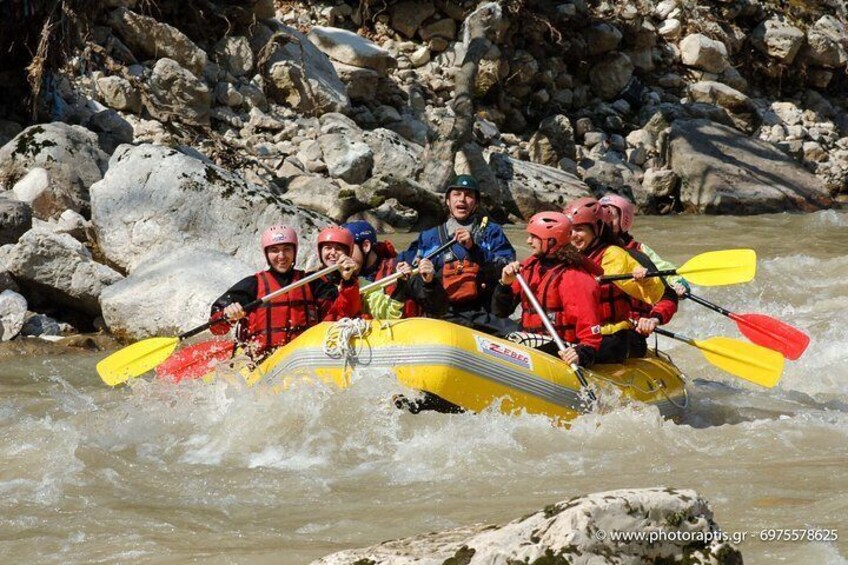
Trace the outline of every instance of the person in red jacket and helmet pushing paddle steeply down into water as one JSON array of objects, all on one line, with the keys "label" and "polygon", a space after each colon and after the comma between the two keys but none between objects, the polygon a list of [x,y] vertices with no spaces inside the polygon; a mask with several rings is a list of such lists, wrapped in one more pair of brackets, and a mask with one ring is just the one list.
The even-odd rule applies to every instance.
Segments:
[{"label": "person in red jacket and helmet pushing paddle steeply down into water", "polygon": [[538,349],[558,354],[566,363],[590,367],[601,346],[600,287],[571,241],[571,221],[561,212],[540,212],[527,224],[533,255],[503,268],[492,296],[492,312],[508,316],[521,303],[525,332],[546,334],[542,319],[516,281],[519,270],[539,300],[557,334],[569,344],[559,351],[554,341]]}]

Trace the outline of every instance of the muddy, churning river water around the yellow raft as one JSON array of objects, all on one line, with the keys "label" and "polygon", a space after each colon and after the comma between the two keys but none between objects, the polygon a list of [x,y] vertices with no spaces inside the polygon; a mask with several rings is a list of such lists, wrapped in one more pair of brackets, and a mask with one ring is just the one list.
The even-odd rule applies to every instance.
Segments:
[{"label": "muddy, churning river water around the yellow raft", "polygon": [[[412,415],[402,390],[364,374],[349,390],[282,395],[235,380],[109,389],[100,354],[0,361],[2,562],[307,563],[333,551],[460,525],[504,523],[588,492],[692,488],[746,563],[846,563],[848,215],[637,218],[678,264],[757,251],[754,282],[700,289],[812,336],[777,388],[722,373],[660,338],[690,377],[681,424],[652,408],[578,418]],[[525,256],[524,235],[510,230]],[[401,245],[410,236],[393,237]],[[670,329],[739,337],[684,303]],[[837,530],[830,543],[765,542],[761,530]],[[773,536],[773,534],[765,534]]]}]

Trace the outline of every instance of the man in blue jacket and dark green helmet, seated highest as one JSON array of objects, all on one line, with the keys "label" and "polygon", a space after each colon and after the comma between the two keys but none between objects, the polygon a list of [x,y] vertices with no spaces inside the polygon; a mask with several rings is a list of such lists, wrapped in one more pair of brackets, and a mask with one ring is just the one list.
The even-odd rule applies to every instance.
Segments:
[{"label": "man in blue jacket and dark green helmet, seated highest", "polygon": [[518,329],[516,322],[493,316],[492,293],[503,267],[515,261],[515,249],[498,224],[480,209],[480,186],[471,175],[459,175],[444,189],[448,220],[423,231],[398,257],[397,270],[410,269],[451,239],[443,253],[432,257],[450,308],[442,318],[495,335]]}]

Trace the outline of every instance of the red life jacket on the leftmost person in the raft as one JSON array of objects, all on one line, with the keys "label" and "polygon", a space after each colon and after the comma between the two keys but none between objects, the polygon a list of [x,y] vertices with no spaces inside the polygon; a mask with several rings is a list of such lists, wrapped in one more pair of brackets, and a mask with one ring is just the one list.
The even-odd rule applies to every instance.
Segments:
[{"label": "red life jacket on the leftmost person in the raft", "polygon": [[[305,273],[295,269],[291,282],[304,277]],[[282,287],[270,271],[256,273],[259,282],[257,296],[263,297]],[[285,345],[307,328],[320,321],[318,304],[308,284],[273,299],[269,304],[257,308],[247,318],[247,336],[260,351]]]}]

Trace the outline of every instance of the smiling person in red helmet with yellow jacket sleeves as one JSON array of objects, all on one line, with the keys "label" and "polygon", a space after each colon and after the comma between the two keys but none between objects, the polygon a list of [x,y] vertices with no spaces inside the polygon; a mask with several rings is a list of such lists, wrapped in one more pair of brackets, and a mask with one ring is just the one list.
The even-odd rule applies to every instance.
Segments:
[{"label": "smiling person in red helmet with yellow jacket sleeves", "polygon": [[[606,210],[591,197],[578,198],[565,207],[571,220],[571,243],[606,275],[633,273],[642,265],[627,251],[614,245],[612,231],[607,226]],[[630,351],[631,298],[656,304],[665,287],[661,280],[643,278],[601,282],[601,333],[603,340],[598,351],[598,363],[621,363]]]}]

